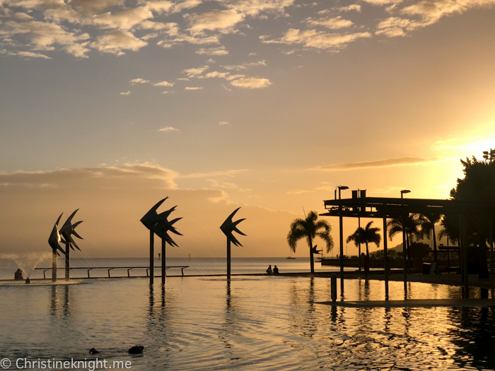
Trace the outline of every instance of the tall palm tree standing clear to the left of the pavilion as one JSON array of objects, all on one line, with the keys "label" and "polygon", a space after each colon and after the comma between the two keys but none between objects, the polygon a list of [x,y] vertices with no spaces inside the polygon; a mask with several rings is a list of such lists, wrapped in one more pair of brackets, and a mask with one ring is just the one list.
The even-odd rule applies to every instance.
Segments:
[{"label": "tall palm tree standing clear to the left of the pavilion", "polygon": [[313,254],[317,253],[315,247],[313,247],[313,240],[315,237],[320,237],[325,241],[327,245],[327,252],[330,252],[334,247],[332,236],[330,235],[330,223],[327,220],[318,220],[318,214],[315,211],[310,211],[305,219],[297,218],[291,223],[291,230],[287,234],[287,242],[293,252],[296,252],[296,245],[298,240],[305,238],[310,248],[310,264],[311,273],[315,273],[315,261],[313,260]]}]

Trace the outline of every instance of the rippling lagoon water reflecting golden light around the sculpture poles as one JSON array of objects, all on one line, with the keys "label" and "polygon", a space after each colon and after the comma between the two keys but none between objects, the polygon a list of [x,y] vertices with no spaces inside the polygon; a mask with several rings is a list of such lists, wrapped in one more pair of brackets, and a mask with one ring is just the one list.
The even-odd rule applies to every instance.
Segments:
[{"label": "rippling lagoon water reflecting golden light around the sculpture poles", "polygon": [[[410,293],[461,295],[423,283],[411,283]],[[345,300],[383,297],[379,281],[346,281]],[[132,370],[495,367],[491,308],[334,308],[315,303],[330,300],[325,278],[239,277],[230,285],[225,278],[168,278],[165,289],[153,290],[144,278],[4,283],[0,298],[0,358],[11,360],[91,359],[94,347],[108,362],[130,360]],[[390,299],[401,298],[402,283],[391,282]],[[144,356],[127,354],[135,344],[145,346]]]}]

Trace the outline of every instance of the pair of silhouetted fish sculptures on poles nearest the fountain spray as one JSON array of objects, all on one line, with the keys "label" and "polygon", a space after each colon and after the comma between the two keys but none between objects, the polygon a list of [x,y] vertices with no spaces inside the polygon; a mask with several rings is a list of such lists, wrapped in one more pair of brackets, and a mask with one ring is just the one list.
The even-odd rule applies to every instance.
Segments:
[{"label": "pair of silhouetted fish sculptures on poles nearest the fountain spray", "polygon": [[[50,237],[48,238],[48,244],[52,247],[52,281],[57,281],[57,256],[60,256],[59,252],[62,252],[62,254],[64,254],[65,256],[65,280],[69,281],[71,269],[71,249],[74,250],[74,247],[76,247],[76,249],[81,251],[81,249],[79,249],[78,245],[74,241],[74,238],[72,238],[72,235],[75,235],[79,239],[83,240],[83,237],[78,235],[77,232],[74,230],[79,224],[83,223],[83,221],[81,220],[72,224],[72,218],[74,218],[74,215],[76,215],[78,210],[79,209],[74,211],[74,213],[71,213],[71,216],[67,218],[64,225],[62,225],[62,228],[60,228],[59,230],[59,221],[60,218],[62,218],[63,213],[60,214],[59,218],[57,219],[57,223],[55,223],[55,225],[53,226],[52,233],[50,233]],[[59,242],[65,244],[65,251],[59,245]]]}]

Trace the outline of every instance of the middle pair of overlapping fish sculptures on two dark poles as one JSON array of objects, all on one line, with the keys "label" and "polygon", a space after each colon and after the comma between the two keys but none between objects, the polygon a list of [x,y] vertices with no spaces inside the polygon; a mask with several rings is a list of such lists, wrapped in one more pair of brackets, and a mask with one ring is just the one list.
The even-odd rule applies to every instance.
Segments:
[{"label": "middle pair of overlapping fish sculptures on two dark poles", "polygon": [[142,218],[141,218],[141,223],[144,224],[146,228],[148,228],[150,232],[150,240],[149,240],[149,278],[150,278],[150,284],[153,285],[153,280],[155,276],[155,264],[153,261],[154,257],[154,241],[155,237],[154,235],[156,234],[158,237],[161,238],[161,282],[162,284],[165,284],[166,280],[166,273],[165,273],[165,245],[168,242],[169,245],[179,247],[175,243],[174,240],[172,240],[172,237],[168,235],[168,232],[173,232],[175,235],[180,235],[179,232],[173,227],[173,224],[177,222],[177,220],[180,220],[182,218],[175,218],[173,220],[168,220],[168,216],[170,216],[170,213],[172,211],[175,211],[175,208],[177,206],[174,206],[173,208],[170,208],[167,211],[164,211],[163,213],[158,214],[156,210],[163,204],[163,202],[168,199],[168,197],[165,197],[165,199],[162,199],[161,201],[158,201],[158,203],[153,206]]}]

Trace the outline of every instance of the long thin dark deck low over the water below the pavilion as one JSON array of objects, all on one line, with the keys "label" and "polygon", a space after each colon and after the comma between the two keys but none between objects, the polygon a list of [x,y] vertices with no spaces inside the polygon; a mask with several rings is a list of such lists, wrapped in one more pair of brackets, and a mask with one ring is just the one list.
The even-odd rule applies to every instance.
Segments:
[{"label": "long thin dark deck low over the water below the pavilion", "polygon": [[315,302],[348,308],[495,307],[495,299],[408,299]]}]

